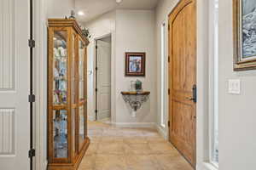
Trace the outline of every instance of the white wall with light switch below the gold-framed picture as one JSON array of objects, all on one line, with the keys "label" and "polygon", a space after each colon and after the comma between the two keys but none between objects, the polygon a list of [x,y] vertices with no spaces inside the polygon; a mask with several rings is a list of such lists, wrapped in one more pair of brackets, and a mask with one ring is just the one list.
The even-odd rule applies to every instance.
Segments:
[{"label": "white wall with light switch below the gold-framed picture", "polygon": [[[221,170],[255,169],[256,71],[233,71],[232,1],[219,1],[219,149]],[[241,79],[241,95],[227,93]]]}]

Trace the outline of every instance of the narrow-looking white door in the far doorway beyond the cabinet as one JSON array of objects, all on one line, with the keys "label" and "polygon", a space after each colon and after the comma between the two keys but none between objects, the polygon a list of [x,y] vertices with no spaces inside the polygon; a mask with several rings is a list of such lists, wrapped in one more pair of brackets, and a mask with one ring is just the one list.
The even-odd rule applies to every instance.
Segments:
[{"label": "narrow-looking white door in the far doorway beyond the cabinet", "polygon": [[97,41],[97,119],[110,117],[111,111],[111,42]]}]

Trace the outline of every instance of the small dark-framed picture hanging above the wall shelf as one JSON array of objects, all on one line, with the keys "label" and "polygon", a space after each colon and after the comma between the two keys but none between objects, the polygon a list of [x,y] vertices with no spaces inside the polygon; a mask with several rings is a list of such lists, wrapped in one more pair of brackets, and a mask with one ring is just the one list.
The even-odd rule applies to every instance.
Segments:
[{"label": "small dark-framed picture hanging above the wall shelf", "polygon": [[145,77],[146,53],[125,53],[125,77]]}]

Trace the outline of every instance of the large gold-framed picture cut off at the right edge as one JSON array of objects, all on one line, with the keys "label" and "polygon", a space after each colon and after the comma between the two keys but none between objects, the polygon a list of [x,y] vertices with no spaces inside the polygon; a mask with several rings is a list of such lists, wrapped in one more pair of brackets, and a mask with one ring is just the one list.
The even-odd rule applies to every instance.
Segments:
[{"label": "large gold-framed picture cut off at the right edge", "polygon": [[256,1],[233,0],[234,71],[256,69]]}]

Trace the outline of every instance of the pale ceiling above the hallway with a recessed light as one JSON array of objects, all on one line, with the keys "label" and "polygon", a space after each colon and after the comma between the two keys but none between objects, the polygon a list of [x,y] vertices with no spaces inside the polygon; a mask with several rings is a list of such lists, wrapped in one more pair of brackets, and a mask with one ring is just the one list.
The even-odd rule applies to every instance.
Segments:
[{"label": "pale ceiling above the hallway with a recessed light", "polygon": [[159,0],[123,0],[116,3],[116,0],[75,0],[76,11],[82,11],[83,16],[77,14],[81,22],[93,20],[96,17],[113,9],[153,9]]}]

